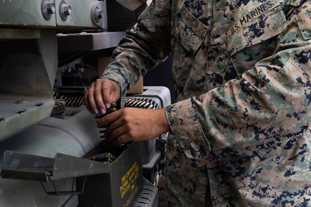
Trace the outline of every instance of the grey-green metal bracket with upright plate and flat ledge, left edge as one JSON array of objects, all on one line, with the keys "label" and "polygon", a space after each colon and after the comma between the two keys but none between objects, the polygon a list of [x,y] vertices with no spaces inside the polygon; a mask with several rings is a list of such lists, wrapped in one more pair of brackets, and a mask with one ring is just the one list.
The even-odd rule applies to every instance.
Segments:
[{"label": "grey-green metal bracket with upright plate and flat ledge, left edge", "polygon": [[0,70],[0,141],[48,118],[53,109],[56,31],[39,31],[34,47],[40,53],[1,55],[5,61]]}]

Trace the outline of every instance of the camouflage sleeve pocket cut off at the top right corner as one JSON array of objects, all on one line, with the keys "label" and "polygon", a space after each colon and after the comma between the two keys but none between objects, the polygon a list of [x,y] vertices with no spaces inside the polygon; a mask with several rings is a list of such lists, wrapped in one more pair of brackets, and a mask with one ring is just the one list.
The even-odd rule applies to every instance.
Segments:
[{"label": "camouflage sleeve pocket cut off at the top right corner", "polygon": [[305,1],[294,14],[305,40],[311,38],[311,1]]}]

